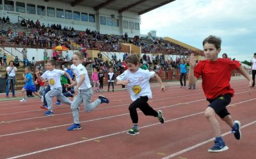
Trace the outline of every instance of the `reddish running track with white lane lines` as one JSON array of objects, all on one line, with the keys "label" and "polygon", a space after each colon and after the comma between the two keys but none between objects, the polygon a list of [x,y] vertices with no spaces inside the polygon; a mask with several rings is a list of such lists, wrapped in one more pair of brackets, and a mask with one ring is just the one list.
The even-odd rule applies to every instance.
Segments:
[{"label": "reddish running track with white lane lines", "polygon": [[242,139],[236,140],[219,120],[229,149],[216,154],[207,153],[213,133],[204,117],[208,103],[200,84],[195,90],[179,88],[177,82],[166,85],[164,93],[152,87],[149,100],[154,109],[163,111],[165,123],[138,112],[140,134],[136,136],[126,134],[132,126],[127,91],[100,93],[110,103],[90,113],[81,111],[82,129],[72,132],[66,130],[72,125],[67,105],[54,105],[54,116],[45,117],[38,98],[0,102],[0,158],[256,158],[256,92],[253,89],[249,95],[246,80],[231,81],[236,94],[228,107],[232,117],[241,121]]}]

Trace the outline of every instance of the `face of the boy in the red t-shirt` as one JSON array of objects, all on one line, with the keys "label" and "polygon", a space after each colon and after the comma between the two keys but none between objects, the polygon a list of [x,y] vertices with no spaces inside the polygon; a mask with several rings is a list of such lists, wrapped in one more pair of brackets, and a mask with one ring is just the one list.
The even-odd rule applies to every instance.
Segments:
[{"label": "face of the boy in the red t-shirt", "polygon": [[221,49],[216,49],[214,44],[212,43],[205,43],[204,45],[204,56],[205,59],[209,59],[210,61],[216,61],[218,59],[218,54],[220,53]]}]

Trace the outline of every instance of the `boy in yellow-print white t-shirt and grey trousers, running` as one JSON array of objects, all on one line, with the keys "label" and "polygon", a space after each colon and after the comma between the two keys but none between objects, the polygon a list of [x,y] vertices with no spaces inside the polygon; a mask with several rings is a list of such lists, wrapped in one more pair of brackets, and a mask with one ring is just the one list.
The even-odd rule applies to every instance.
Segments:
[{"label": "boy in yellow-print white t-shirt and grey trousers, running", "polygon": [[73,80],[71,79],[70,75],[63,71],[63,70],[56,70],[56,61],[54,59],[50,59],[47,61],[47,71],[40,76],[40,74],[37,72],[36,76],[39,80],[45,80],[47,79],[49,82],[49,86],[51,87],[51,91],[47,92],[45,95],[45,100],[48,105],[47,112],[44,113],[45,116],[53,116],[52,112],[52,97],[56,96],[58,100],[60,100],[61,103],[66,103],[67,105],[71,105],[71,100],[69,100],[66,96],[62,94],[62,86],[60,82],[61,75],[66,75],[71,83],[73,83]]}]

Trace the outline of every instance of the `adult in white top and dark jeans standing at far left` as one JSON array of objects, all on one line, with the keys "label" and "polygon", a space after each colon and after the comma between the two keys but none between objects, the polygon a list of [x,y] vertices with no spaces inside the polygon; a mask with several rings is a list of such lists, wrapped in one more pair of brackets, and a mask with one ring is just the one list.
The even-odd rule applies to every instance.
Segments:
[{"label": "adult in white top and dark jeans standing at far left", "polygon": [[9,98],[10,87],[12,86],[12,96],[15,97],[15,84],[16,84],[16,72],[17,68],[13,65],[13,61],[9,62],[9,66],[6,68],[8,78],[6,79],[6,98]]}]

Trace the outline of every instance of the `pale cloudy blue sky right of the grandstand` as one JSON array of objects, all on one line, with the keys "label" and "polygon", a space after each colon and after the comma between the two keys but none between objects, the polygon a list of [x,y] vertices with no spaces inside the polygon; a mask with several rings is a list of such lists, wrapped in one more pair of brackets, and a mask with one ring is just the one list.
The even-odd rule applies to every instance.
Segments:
[{"label": "pale cloudy blue sky right of the grandstand", "polygon": [[255,0],[176,0],[141,15],[141,34],[156,30],[203,50],[203,40],[213,34],[222,40],[221,52],[250,61],[256,52]]}]

